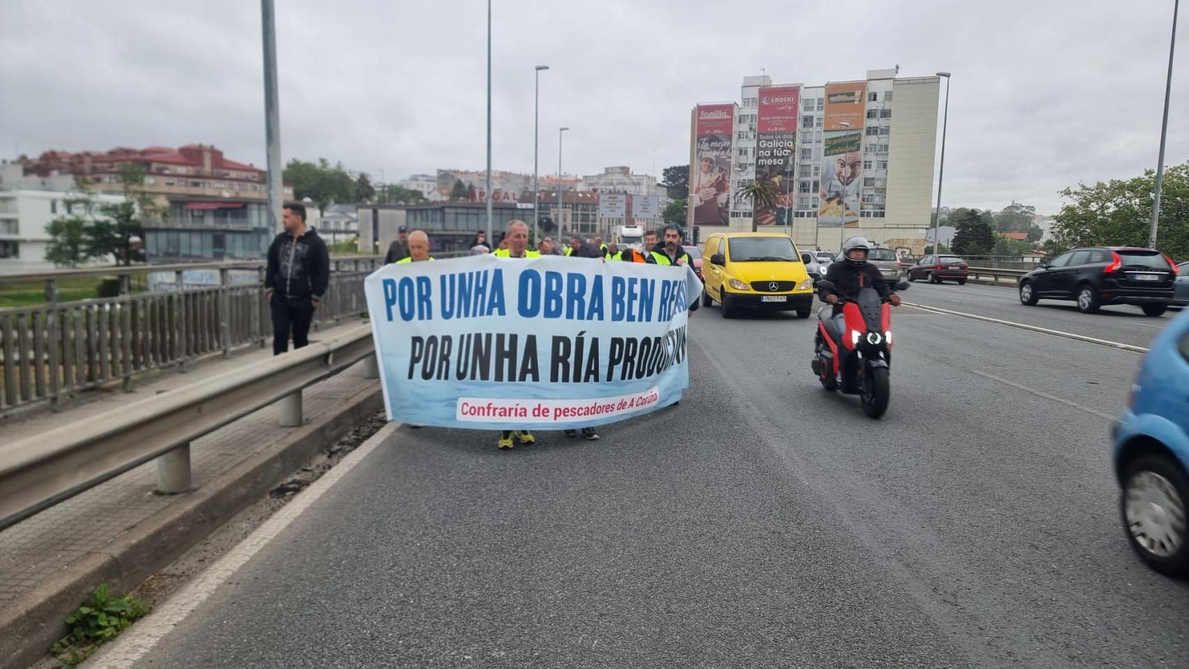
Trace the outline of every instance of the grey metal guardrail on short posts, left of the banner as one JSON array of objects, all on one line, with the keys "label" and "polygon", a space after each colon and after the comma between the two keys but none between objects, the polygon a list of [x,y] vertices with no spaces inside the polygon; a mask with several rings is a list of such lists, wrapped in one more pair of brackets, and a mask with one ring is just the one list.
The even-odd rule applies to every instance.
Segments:
[{"label": "grey metal guardrail on short posts, left of the banner", "polygon": [[273,402],[281,424],[301,425],[301,391],[367,359],[371,327],[132,403],[86,425],[0,444],[0,529],[157,460],[158,491],[190,490],[190,442]]}]

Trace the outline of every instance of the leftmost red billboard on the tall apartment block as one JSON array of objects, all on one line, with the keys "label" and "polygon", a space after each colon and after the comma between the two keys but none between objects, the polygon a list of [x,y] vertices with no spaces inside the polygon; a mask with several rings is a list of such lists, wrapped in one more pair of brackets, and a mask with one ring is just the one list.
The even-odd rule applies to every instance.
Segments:
[{"label": "leftmost red billboard on the tall apartment block", "polygon": [[730,222],[735,103],[698,105],[693,109],[692,125],[691,222],[694,226],[725,226]]}]

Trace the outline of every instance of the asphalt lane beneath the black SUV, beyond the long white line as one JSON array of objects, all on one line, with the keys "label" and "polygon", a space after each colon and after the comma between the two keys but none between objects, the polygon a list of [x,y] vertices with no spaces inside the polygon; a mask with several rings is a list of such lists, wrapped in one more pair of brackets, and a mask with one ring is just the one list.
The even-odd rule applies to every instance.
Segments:
[{"label": "asphalt lane beneath the black SUV, beyond the long white line", "polygon": [[1020,304],[1012,288],[955,283],[914,282],[905,299],[965,314],[1014,321],[1030,326],[1147,347],[1152,339],[1176,317],[1169,311],[1160,317],[1145,316],[1139,307],[1103,307],[1097,314],[1082,314],[1072,302],[1042,299],[1034,307]]}]

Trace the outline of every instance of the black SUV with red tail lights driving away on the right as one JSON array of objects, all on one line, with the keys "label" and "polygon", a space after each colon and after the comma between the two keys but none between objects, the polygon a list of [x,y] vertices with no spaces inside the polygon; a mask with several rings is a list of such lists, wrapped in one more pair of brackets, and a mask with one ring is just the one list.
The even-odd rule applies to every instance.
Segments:
[{"label": "black SUV with red tail lights driving away on the right", "polygon": [[1020,302],[1072,299],[1083,314],[1103,304],[1135,304],[1159,316],[1172,301],[1177,266],[1151,248],[1075,248],[1020,277]]}]

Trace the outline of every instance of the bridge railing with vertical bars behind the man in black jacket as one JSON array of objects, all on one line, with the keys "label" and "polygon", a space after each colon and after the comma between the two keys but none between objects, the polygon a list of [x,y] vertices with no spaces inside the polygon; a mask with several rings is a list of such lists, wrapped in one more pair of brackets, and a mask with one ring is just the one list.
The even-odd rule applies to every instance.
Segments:
[{"label": "bridge railing with vertical bars behind the man in black jacket", "polygon": [[[453,255],[443,253],[441,257]],[[331,258],[331,282],[315,323],[366,311],[363,282],[378,255]],[[243,346],[264,346],[272,332],[265,260],[133,265],[0,276],[0,285],[39,280],[45,302],[0,309],[0,416],[134,374],[184,366]],[[132,278],[147,276],[145,292]],[[118,279],[114,297],[58,302],[58,284],[81,277]],[[316,326],[315,326],[316,327]]]}]

